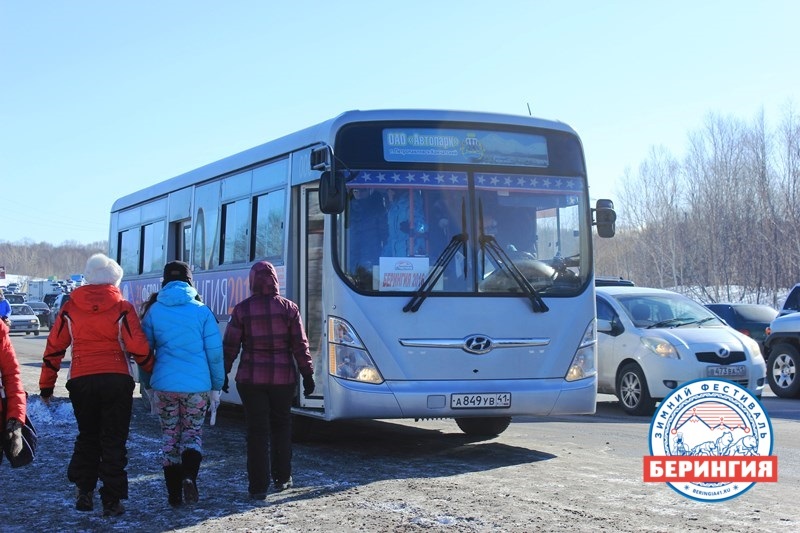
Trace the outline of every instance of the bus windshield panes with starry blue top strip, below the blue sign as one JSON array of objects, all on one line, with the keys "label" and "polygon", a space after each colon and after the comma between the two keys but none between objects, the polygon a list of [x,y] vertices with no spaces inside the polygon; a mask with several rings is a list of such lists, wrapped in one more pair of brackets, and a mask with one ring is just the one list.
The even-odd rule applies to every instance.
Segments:
[{"label": "bus windshield panes with starry blue top strip, below the blue sign", "polygon": [[[351,173],[339,264],[359,291],[416,290],[448,244],[434,293],[520,293],[504,268],[540,292],[574,294],[588,272],[575,177],[373,169]],[[583,238],[582,238],[583,236]],[[501,252],[491,253],[490,243]]]}]

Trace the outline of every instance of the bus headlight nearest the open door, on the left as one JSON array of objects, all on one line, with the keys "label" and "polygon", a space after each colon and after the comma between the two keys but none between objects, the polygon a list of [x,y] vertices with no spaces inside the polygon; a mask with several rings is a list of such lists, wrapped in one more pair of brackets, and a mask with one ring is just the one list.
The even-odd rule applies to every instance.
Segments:
[{"label": "bus headlight nearest the open door, on the left", "polygon": [[383,383],[383,376],[352,326],[341,318],[328,318],[328,368],[332,376]]}]

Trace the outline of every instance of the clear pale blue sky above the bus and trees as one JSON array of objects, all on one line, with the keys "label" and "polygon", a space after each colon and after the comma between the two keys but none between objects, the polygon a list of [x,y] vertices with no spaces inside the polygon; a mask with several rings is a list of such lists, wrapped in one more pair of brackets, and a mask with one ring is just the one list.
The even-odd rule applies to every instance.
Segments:
[{"label": "clear pale blue sky above the bus and trees", "polygon": [[798,20],[792,0],[0,0],[0,240],[105,240],[116,198],[348,109],[530,105],[615,198],[709,113],[800,106]]}]

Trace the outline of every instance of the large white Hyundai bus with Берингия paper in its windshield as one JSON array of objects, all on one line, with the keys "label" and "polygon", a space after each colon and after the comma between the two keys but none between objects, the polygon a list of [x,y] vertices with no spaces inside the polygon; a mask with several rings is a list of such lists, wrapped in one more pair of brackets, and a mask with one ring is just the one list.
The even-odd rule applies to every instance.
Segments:
[{"label": "large white Hyundai bus with \u0411\u0435\u0440\u0438\u043d\u0433\u0438\u044f paper in its windshield", "polygon": [[253,262],[273,263],[315,366],[295,414],[496,435],[594,412],[592,226],[614,219],[563,123],[351,111],[120,198],[109,252],[137,307],[165,262],[191,264],[222,328]]}]

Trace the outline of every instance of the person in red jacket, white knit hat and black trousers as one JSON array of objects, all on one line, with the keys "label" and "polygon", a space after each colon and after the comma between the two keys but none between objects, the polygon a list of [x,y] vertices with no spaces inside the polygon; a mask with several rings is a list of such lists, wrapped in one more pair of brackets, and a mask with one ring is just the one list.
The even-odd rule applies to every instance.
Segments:
[{"label": "person in red jacket, white knit hat and black trousers", "polygon": [[72,345],[66,387],[78,422],[67,478],[75,483],[75,508],[94,508],[94,489],[103,482],[103,516],[125,512],[128,498],[127,440],[133,409],[133,360],[147,372],[153,355],[133,304],[119,290],[122,268],[95,254],[86,262],[88,285],[72,291],[47,336],[39,388],[50,401],[61,360]]}]

